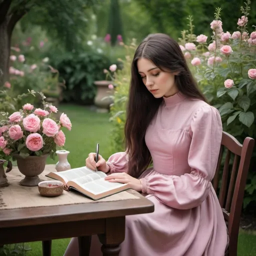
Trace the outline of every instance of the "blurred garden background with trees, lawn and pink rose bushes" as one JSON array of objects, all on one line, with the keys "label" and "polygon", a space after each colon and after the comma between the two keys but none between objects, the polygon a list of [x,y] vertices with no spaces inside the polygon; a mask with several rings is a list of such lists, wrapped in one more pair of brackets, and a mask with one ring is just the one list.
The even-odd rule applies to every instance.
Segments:
[{"label": "blurred garden background with trees, lawn and pink rose bushes", "polygon": [[[255,25],[255,0],[0,0],[0,111],[10,114],[26,102],[40,107],[39,97],[20,95],[43,92],[72,122],[64,146],[71,167],[83,165],[96,143],[104,158],[123,151],[130,62],[146,35],[162,32],[179,42],[223,129],[240,142],[256,139]],[[95,84],[102,80],[105,87]],[[255,165],[254,149],[241,256],[256,254]],[[67,243],[55,240],[53,255],[62,255]],[[27,255],[41,255],[39,242],[27,246]],[[23,255],[22,249],[8,245],[0,255]]]}]

